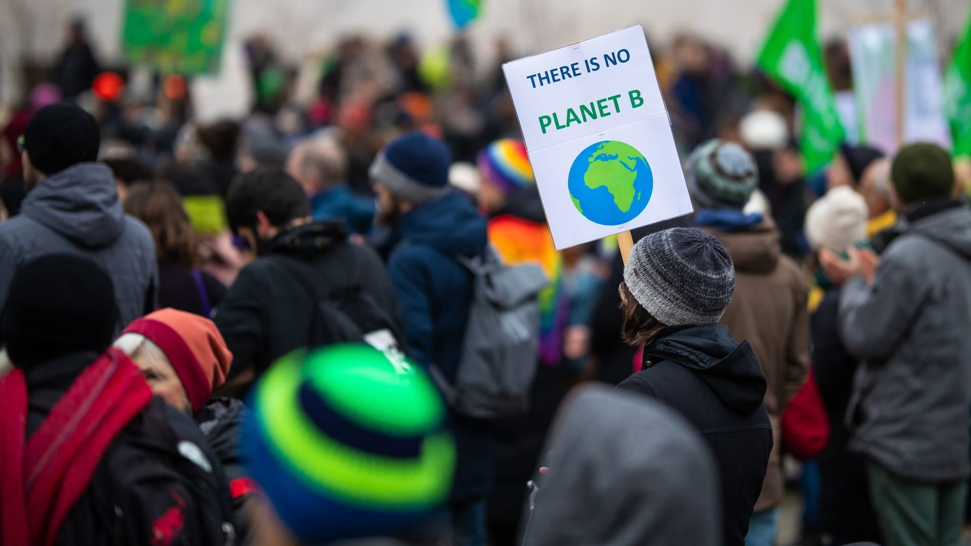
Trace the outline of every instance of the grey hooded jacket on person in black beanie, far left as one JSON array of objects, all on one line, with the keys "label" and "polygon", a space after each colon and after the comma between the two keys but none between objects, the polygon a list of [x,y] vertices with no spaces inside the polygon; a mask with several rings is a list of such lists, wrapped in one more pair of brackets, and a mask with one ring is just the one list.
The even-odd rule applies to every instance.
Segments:
[{"label": "grey hooded jacket on person in black beanie, far left", "polygon": [[154,242],[144,223],[124,214],[107,166],[79,163],[44,179],[24,198],[19,215],[0,223],[0,308],[17,267],[54,252],[90,257],[112,278],[116,334],[154,310]]}]

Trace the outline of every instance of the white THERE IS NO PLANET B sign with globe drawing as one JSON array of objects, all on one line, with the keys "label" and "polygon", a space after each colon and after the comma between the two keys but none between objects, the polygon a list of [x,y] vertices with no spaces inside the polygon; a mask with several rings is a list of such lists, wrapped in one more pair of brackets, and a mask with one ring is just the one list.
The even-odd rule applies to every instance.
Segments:
[{"label": "white THERE IS NO PLANET B sign with globe drawing", "polygon": [[502,69],[557,250],[692,212],[641,25]]}]

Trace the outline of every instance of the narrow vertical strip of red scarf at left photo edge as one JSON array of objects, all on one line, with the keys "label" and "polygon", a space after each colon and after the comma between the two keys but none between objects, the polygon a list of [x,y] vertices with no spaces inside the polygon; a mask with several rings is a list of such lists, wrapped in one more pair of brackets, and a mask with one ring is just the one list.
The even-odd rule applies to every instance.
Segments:
[{"label": "narrow vertical strip of red scarf at left photo edge", "polygon": [[13,368],[0,378],[0,544],[30,544],[23,455],[27,425],[27,385],[23,372]]}]

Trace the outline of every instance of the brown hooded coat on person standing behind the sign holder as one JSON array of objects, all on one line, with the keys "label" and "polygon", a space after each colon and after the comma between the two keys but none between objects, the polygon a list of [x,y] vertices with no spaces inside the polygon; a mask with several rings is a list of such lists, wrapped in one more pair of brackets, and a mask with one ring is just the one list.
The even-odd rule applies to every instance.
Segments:
[{"label": "brown hooded coat on person standing behind the sign holder", "polygon": [[[783,410],[809,370],[808,288],[799,267],[783,256],[779,229],[771,221],[743,230],[704,228],[719,238],[735,263],[735,295],[721,318],[737,339],[748,340],[768,384],[765,409],[781,437]],[[772,450],[765,486],[755,511],[783,499],[782,446]]]}]

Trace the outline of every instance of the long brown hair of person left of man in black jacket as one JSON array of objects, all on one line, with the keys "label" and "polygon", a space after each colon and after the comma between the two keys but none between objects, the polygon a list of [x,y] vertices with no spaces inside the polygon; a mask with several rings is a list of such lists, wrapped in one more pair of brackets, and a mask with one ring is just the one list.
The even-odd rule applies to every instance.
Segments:
[{"label": "long brown hair of person left of man in black jacket", "polygon": [[186,267],[198,264],[195,231],[188,220],[182,197],[171,184],[135,184],[128,190],[124,211],[149,226],[158,259],[172,260]]}]

